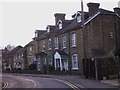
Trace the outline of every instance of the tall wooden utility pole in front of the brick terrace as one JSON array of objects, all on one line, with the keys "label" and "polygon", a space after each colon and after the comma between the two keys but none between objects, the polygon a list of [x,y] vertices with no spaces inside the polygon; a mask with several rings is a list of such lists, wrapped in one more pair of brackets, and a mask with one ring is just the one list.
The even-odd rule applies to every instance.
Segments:
[{"label": "tall wooden utility pole in front of the brick terrace", "polygon": [[87,75],[87,51],[86,51],[86,42],[87,42],[87,37],[86,37],[86,29],[85,29],[85,19],[84,19],[84,9],[83,9],[83,0],[81,0],[81,10],[82,10],[82,40],[83,40],[83,55],[84,55],[84,70],[85,70],[85,78],[88,78]]}]

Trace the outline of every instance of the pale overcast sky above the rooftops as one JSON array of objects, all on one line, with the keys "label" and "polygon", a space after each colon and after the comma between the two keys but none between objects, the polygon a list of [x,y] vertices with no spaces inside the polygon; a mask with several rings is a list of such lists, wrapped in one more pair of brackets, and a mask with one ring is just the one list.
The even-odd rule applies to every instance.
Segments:
[{"label": "pale overcast sky above the rooftops", "polygon": [[[85,11],[88,2],[99,2],[100,8],[113,11],[119,0],[83,1]],[[54,25],[55,13],[66,13],[66,19],[71,19],[81,10],[80,0],[2,0],[0,7],[0,48],[8,44],[24,46],[32,40],[36,29]]]}]

